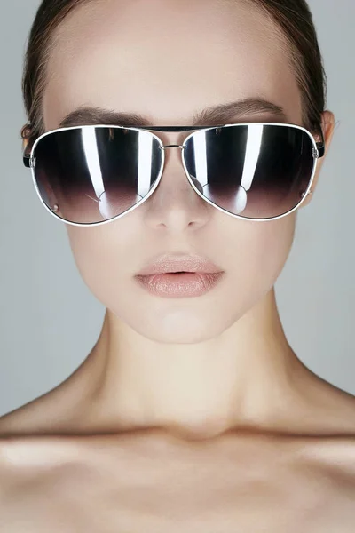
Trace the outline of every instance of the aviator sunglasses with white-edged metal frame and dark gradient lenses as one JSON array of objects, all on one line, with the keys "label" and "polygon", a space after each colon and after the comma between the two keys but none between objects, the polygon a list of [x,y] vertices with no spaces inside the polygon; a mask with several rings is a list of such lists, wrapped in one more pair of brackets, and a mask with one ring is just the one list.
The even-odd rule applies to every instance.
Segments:
[{"label": "aviator sunglasses with white-edged metal frame and dark gradient lenses", "polygon": [[[151,131],[192,131],[166,145]],[[88,125],[48,131],[24,164],[53,216],[73,226],[119,219],[154,194],[165,150],[181,149],[186,178],[207,203],[236,219],[274,220],[295,211],[312,187],[324,139],[285,123],[214,127]]]}]

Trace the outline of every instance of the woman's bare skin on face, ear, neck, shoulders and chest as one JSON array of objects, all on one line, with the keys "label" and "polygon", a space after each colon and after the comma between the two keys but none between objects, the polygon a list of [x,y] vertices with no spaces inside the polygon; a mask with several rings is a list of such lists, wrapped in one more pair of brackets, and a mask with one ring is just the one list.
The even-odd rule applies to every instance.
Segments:
[{"label": "woman's bare skin on face, ear, neck, shoulders and chest", "polygon": [[[83,106],[189,125],[203,108],[250,97],[303,125],[288,53],[272,21],[241,0],[83,4],[57,32],[45,129]],[[322,127],[327,155],[330,111]],[[67,226],[105,322],[72,376],[0,419],[1,532],[353,532],[355,399],[298,359],[275,302],[296,216],[260,223],[217,211],[170,149],[137,210]],[[199,298],[153,297],[134,275],[163,252],[205,255],[224,279]]]}]

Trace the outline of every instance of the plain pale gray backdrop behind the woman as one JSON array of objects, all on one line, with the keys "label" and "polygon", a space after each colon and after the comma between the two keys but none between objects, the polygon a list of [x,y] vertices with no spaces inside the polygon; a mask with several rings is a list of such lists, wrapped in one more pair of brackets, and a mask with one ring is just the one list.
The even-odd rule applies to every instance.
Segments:
[{"label": "plain pale gray backdrop behind the woman", "polygon": [[[20,81],[39,0],[0,7],[0,415],[66,379],[96,342],[105,308],[84,285],[65,226],[44,210],[21,163]],[[338,121],[312,203],[276,284],[296,354],[322,378],[355,394],[354,0],[310,0]]]}]

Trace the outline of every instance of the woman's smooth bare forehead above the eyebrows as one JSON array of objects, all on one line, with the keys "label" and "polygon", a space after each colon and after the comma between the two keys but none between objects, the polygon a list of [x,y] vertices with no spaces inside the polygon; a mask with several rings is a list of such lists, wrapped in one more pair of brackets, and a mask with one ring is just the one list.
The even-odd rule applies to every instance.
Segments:
[{"label": "woman's smooth bare forehead above the eyebrows", "polygon": [[249,97],[301,120],[288,47],[244,0],[91,0],[57,31],[47,80],[47,130],[83,106],[188,125],[204,107]]}]

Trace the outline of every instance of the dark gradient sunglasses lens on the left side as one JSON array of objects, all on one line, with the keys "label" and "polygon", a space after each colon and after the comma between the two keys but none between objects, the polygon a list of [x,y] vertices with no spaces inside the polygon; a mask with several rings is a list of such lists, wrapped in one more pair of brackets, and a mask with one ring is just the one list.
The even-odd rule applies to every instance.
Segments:
[{"label": "dark gradient sunglasses lens on the left side", "polygon": [[113,219],[140,202],[159,178],[163,157],[150,132],[103,126],[49,133],[33,156],[43,202],[82,224]]}]

